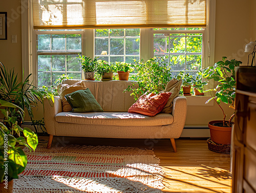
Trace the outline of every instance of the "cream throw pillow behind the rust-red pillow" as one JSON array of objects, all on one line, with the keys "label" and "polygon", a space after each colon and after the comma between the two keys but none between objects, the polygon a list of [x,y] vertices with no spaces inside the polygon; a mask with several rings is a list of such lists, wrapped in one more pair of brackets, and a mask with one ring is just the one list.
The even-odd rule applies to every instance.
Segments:
[{"label": "cream throw pillow behind the rust-red pillow", "polygon": [[162,92],[171,92],[172,95],[170,95],[161,113],[172,113],[173,101],[174,101],[174,98],[179,96],[181,83],[182,83],[182,80],[172,79],[166,84],[166,87]]}]

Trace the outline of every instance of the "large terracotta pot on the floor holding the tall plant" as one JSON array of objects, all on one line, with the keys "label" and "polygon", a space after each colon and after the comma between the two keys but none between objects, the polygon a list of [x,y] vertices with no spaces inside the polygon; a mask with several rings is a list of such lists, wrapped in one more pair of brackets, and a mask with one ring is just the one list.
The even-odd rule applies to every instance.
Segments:
[{"label": "large terracotta pot on the floor holding the tall plant", "polygon": [[[227,121],[226,121],[227,122]],[[223,145],[230,145],[231,143],[231,126],[219,126],[216,125],[223,123],[223,121],[210,121],[208,123],[208,127],[210,129],[210,139],[211,141],[223,144]]]}]

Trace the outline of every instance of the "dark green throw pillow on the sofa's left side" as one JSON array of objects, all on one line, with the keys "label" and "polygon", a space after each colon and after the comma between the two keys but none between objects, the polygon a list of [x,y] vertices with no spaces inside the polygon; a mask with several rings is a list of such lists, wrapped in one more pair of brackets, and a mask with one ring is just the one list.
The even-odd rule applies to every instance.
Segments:
[{"label": "dark green throw pillow on the sofa's left side", "polygon": [[73,113],[103,112],[103,109],[88,88],[67,94],[65,98],[70,103]]}]

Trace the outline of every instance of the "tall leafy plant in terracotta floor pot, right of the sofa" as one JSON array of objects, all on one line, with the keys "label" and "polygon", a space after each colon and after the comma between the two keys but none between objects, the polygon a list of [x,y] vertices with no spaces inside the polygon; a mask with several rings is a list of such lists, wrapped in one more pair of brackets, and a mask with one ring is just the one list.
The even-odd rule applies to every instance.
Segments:
[{"label": "tall leafy plant in terracotta floor pot, right of the sofa", "polygon": [[213,79],[217,83],[215,89],[205,91],[210,92],[211,94],[211,98],[206,101],[206,103],[214,100],[220,107],[223,114],[222,120],[214,120],[208,123],[211,140],[218,144],[229,145],[234,114],[231,115],[227,121],[226,114],[221,105],[223,102],[229,104],[229,107],[234,109],[237,83],[234,68],[241,65],[242,62],[235,59],[227,60],[226,58],[227,57],[222,57],[222,60],[215,63],[214,66],[204,69],[203,78],[208,80]]}]

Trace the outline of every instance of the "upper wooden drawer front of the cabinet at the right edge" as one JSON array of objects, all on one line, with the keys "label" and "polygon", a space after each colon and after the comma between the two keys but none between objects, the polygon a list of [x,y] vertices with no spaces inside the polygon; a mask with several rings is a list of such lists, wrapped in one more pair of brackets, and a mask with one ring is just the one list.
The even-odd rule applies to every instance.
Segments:
[{"label": "upper wooden drawer front of the cabinet at the right edge", "polygon": [[[256,151],[256,101],[249,100],[247,110],[246,146]],[[256,182],[255,182],[256,183]]]}]

